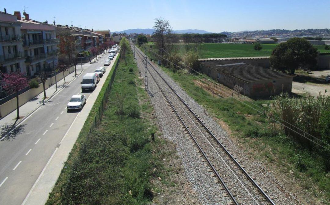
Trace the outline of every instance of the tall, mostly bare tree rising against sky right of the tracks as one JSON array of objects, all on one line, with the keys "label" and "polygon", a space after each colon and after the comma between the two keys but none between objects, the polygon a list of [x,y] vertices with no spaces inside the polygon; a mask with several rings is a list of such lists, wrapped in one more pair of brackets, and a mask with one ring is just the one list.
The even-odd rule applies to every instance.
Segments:
[{"label": "tall, mostly bare tree rising against sky right of the tracks", "polygon": [[[166,46],[169,43],[168,40],[170,40],[170,38],[166,38],[166,35],[172,33],[170,23],[163,18],[156,18],[154,23],[155,25],[153,26],[153,28],[155,29],[155,31],[153,32],[153,38],[156,43],[156,46],[160,49],[166,49]],[[162,54],[163,51],[161,50],[161,55]]]}]

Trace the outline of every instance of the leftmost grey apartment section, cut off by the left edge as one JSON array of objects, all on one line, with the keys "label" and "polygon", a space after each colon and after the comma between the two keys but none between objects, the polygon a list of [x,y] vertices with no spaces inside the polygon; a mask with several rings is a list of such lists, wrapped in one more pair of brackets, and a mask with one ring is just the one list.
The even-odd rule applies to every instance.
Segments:
[{"label": "leftmost grey apartment section, cut off by the left edge", "polygon": [[10,73],[25,69],[21,22],[15,15],[0,12],[0,71]]}]

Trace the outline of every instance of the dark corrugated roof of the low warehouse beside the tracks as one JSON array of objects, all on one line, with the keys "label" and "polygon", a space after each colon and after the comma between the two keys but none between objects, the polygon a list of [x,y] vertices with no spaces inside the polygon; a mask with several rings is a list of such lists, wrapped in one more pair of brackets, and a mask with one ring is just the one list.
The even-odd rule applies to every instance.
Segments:
[{"label": "dark corrugated roof of the low warehouse beside the tracks", "polygon": [[201,65],[243,82],[293,77],[293,75],[287,73],[242,63],[240,60],[202,61]]}]

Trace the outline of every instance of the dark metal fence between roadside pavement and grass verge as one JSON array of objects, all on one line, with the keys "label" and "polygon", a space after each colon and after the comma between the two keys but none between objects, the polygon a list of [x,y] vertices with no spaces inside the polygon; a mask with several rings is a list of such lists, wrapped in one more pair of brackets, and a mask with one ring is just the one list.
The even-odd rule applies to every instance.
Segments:
[{"label": "dark metal fence between roadside pavement and grass verge", "polygon": [[[94,121],[93,121],[93,124],[91,125],[91,127],[89,129],[89,133],[91,133],[92,132],[92,129],[95,128],[95,127],[97,127],[101,123],[104,109],[105,109],[105,107],[107,105],[107,102],[109,100],[109,95],[110,95],[110,92],[111,92],[111,87],[112,87],[112,84],[114,83],[114,80],[115,80],[115,75],[116,75],[118,64],[119,64],[119,56],[118,56],[118,61],[117,61],[116,65],[115,65],[114,72],[112,73],[112,76],[111,76],[111,79],[110,79],[110,81],[109,81],[109,83],[107,85],[106,91],[103,94],[102,102],[100,103],[100,105],[98,107],[98,111],[95,113]],[[88,135],[87,135],[87,137],[88,137]]]}]

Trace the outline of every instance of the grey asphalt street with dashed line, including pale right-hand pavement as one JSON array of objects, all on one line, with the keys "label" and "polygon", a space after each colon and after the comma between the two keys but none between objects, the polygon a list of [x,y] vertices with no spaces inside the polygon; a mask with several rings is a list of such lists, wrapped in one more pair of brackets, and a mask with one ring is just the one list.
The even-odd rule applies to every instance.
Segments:
[{"label": "grey asphalt street with dashed line, including pale right-hand pavement", "polygon": [[[81,75],[57,91],[47,103],[40,106],[38,102],[31,102],[30,109],[22,108],[29,113],[36,104],[39,106],[0,141],[0,204],[44,204],[47,201],[114,60],[106,67],[106,73],[93,92],[81,92],[82,76],[103,66],[107,56],[96,63],[84,64]],[[53,94],[51,90],[48,93]],[[86,95],[87,103],[82,111],[67,112],[66,104],[75,94]]]}]

